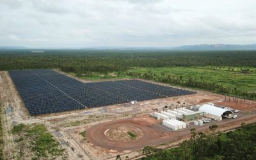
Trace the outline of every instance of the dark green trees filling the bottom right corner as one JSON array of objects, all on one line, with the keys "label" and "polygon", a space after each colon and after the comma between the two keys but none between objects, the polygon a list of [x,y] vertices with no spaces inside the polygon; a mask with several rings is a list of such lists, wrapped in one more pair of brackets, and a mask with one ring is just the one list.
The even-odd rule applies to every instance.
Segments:
[{"label": "dark green trees filling the bottom right corner", "polygon": [[143,148],[145,157],[141,160],[157,159],[256,159],[256,124],[245,125],[236,131],[216,134],[216,126],[210,126],[211,132],[196,133],[191,129],[191,138],[179,147],[161,150],[154,147]]}]

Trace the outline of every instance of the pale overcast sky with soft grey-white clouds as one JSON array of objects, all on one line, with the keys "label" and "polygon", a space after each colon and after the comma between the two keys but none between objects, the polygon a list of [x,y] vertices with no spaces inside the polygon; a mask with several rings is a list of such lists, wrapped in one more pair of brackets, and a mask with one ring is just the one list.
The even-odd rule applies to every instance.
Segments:
[{"label": "pale overcast sky with soft grey-white clouds", "polygon": [[0,46],[256,44],[255,0],[0,0]]}]

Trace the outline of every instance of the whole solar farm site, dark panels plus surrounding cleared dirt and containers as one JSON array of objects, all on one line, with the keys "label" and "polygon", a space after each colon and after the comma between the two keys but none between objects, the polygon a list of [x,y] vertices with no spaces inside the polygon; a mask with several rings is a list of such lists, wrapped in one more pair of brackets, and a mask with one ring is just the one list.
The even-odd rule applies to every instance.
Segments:
[{"label": "whole solar farm site, dark panels plus surrounding cleared dirt and containers", "polygon": [[[237,103],[227,99],[225,95],[195,92],[145,79],[95,82],[51,69],[0,72],[0,101],[8,125],[44,124],[65,148],[68,159],[138,157],[145,146],[169,148],[181,139],[187,140],[191,137],[191,127],[204,132],[210,125],[218,124],[221,131],[227,131],[241,122],[255,122],[255,101]],[[184,112],[205,103],[239,109],[241,113],[236,113],[238,118],[195,125]],[[193,117],[200,114],[192,110]],[[164,115],[174,118],[168,120]],[[178,121],[186,123],[186,127],[180,127]],[[170,129],[173,127],[177,130]],[[6,132],[10,133],[12,130]],[[13,140],[20,140],[22,135],[15,134]],[[24,141],[14,144],[17,143],[23,145]]]}]

